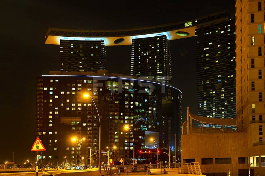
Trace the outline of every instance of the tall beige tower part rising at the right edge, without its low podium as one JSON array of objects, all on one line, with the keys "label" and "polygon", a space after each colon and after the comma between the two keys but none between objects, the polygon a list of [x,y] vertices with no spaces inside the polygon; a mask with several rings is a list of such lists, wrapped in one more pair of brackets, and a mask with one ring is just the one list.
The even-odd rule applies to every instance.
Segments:
[{"label": "tall beige tower part rising at the right edge, without its low podium", "polygon": [[248,133],[250,167],[256,173],[265,168],[264,8],[264,1],[236,0],[237,130]]}]

